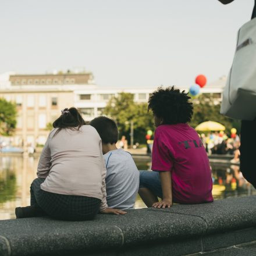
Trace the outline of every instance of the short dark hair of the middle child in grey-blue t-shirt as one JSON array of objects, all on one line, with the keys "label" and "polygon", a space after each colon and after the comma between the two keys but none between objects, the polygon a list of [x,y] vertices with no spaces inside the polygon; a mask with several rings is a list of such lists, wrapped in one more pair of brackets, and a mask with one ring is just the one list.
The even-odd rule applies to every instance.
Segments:
[{"label": "short dark hair of the middle child in grey-blue t-shirt", "polygon": [[116,144],[118,141],[118,126],[115,121],[106,116],[99,116],[91,120],[89,125],[93,126],[97,131],[101,140],[105,144]]}]

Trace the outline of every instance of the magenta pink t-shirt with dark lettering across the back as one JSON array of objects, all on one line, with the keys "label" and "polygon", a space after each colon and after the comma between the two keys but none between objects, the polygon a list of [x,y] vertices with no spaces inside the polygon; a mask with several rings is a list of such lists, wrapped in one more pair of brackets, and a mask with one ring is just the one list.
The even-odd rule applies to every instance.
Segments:
[{"label": "magenta pink t-shirt with dark lettering across the back", "polygon": [[186,123],[155,130],[152,170],[172,172],[173,202],[212,202],[209,160],[197,132]]}]

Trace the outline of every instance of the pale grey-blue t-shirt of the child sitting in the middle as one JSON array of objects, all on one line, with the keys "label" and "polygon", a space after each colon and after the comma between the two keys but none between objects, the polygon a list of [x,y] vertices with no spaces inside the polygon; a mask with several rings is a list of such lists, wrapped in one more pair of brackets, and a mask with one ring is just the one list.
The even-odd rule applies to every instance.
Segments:
[{"label": "pale grey-blue t-shirt of the child sitting in the middle", "polygon": [[106,202],[108,207],[134,207],[140,183],[140,173],[129,152],[122,148],[104,155],[106,165]]}]

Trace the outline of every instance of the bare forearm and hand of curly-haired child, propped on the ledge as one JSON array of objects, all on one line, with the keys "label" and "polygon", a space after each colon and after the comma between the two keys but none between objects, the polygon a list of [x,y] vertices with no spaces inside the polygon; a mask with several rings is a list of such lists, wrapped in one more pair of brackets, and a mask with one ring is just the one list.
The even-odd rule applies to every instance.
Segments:
[{"label": "bare forearm and hand of curly-haired child, propped on the ledge", "polygon": [[170,208],[172,206],[172,175],[170,172],[160,172],[163,199],[155,202],[152,206],[155,208]]}]

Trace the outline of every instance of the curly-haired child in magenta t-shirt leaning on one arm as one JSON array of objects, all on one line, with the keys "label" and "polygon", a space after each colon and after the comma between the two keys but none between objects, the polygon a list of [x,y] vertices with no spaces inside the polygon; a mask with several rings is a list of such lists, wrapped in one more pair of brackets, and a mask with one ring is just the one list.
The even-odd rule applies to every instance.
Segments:
[{"label": "curly-haired child in magenta t-shirt leaning on one arm", "polygon": [[157,129],[152,149],[153,172],[140,171],[139,194],[147,207],[214,200],[207,153],[197,132],[187,124],[193,115],[189,99],[174,87],[160,87],[149,99],[148,109],[154,113]]}]

